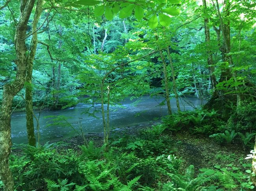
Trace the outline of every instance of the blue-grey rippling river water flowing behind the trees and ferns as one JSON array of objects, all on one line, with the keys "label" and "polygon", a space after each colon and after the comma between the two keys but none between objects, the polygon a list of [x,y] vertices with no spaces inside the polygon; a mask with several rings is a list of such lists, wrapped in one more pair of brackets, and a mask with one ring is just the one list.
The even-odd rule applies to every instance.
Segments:
[{"label": "blue-grey rippling river water flowing behind the trees and ferns", "polygon": [[[111,129],[122,128],[127,126],[134,126],[137,124],[146,124],[157,120],[161,116],[167,115],[167,107],[159,106],[159,104],[164,100],[162,97],[150,97],[143,96],[142,98],[136,100],[125,99],[120,106],[110,106],[110,123],[109,127]],[[135,103],[134,103],[135,102]],[[193,109],[191,104],[195,106],[200,105],[200,100],[197,98],[187,98],[185,100],[181,100],[180,107],[183,110]],[[171,106],[173,112],[176,112],[176,100],[171,98]],[[47,141],[56,141],[64,138],[68,138],[77,133],[71,127],[54,125],[50,126],[53,122],[52,118],[46,116],[65,116],[67,117],[67,121],[72,124],[78,131],[79,126],[77,124],[78,121],[82,124],[82,129],[85,133],[100,133],[103,131],[102,125],[102,117],[101,113],[96,113],[97,118],[93,116],[88,116],[83,114],[85,109],[87,109],[89,105],[86,104],[78,104],[75,107],[70,107],[69,109],[63,109],[58,111],[41,111],[39,118],[40,125],[40,142]],[[100,104],[96,104],[95,107],[100,109]],[[106,107],[106,106],[105,106]],[[36,116],[39,113],[35,113]],[[35,127],[37,126],[36,120],[34,120]],[[36,128],[35,128],[36,129]],[[35,131],[36,133],[36,131]],[[27,143],[27,135],[26,135],[26,113],[25,112],[17,112],[13,113],[11,116],[11,136],[12,141],[15,144]]]}]

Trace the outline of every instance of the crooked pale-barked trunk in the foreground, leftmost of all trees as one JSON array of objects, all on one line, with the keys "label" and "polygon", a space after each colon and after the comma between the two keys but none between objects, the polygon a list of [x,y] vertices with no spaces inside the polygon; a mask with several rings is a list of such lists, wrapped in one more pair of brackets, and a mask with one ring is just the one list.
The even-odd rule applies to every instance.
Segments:
[{"label": "crooked pale-barked trunk in the foreground, leftmost of all trees", "polygon": [[11,153],[11,105],[13,97],[24,86],[26,80],[26,30],[35,0],[20,0],[20,20],[15,32],[16,78],[3,87],[2,106],[0,113],[0,176],[4,183],[4,191],[13,191],[13,176],[9,169]]}]

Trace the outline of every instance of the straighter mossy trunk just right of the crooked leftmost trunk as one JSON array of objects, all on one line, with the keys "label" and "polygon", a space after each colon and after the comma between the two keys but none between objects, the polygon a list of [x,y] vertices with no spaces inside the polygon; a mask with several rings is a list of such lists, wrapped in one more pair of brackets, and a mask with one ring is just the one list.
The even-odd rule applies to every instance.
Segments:
[{"label": "straighter mossy trunk just right of the crooked leftmost trunk", "polygon": [[33,97],[32,97],[32,71],[33,61],[35,58],[35,52],[37,48],[37,24],[40,15],[43,11],[43,0],[37,1],[37,8],[35,11],[34,20],[32,22],[32,42],[30,46],[30,54],[28,56],[26,65],[26,126],[28,135],[28,144],[35,146],[35,133],[34,133],[34,120],[33,120]]}]

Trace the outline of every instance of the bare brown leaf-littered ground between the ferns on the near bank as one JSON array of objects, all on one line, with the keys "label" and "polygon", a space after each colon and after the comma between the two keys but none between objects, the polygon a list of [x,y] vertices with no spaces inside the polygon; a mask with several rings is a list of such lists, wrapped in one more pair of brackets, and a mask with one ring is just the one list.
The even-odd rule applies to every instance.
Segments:
[{"label": "bare brown leaf-littered ground between the ferns on the near bank", "polygon": [[[155,123],[159,124],[159,123]],[[151,125],[140,124],[132,127],[125,127],[111,132],[110,142],[124,136],[133,136],[139,138],[143,129],[151,128]],[[250,154],[250,149],[245,148],[239,143],[231,145],[219,145],[213,139],[202,135],[191,135],[187,131],[182,131],[176,134],[164,133],[163,136],[169,136],[173,140],[173,153],[178,158],[182,158],[181,169],[185,169],[189,165],[195,166],[195,172],[199,173],[201,168],[224,168],[228,165],[236,166],[243,169],[242,164],[251,163],[250,160],[245,160],[245,157]],[[96,147],[103,144],[103,133],[95,133],[86,135],[87,142],[93,141]],[[81,136],[74,136],[63,140],[65,144],[59,146],[58,149],[74,149],[80,151],[79,146],[83,144]]]}]

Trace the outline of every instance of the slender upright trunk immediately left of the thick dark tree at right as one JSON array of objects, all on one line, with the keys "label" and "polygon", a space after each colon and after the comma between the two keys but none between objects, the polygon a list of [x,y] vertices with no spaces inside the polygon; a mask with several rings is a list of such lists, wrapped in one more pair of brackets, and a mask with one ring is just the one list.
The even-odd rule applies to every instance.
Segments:
[{"label": "slender upright trunk immediately left of the thick dark tree at right", "polygon": [[[203,2],[203,6],[204,6],[204,10],[206,11],[207,9],[207,5],[206,5],[206,0],[202,0]],[[208,54],[208,69],[209,69],[209,73],[210,73],[210,77],[211,77],[211,86],[213,88],[213,91],[215,92],[216,89],[216,85],[217,85],[217,80],[216,77],[214,75],[214,67],[213,65],[213,58],[212,58],[212,53],[210,50],[210,28],[209,28],[209,19],[207,17],[204,18],[204,34],[205,34],[205,41],[206,41],[206,45],[207,45],[207,54]]]}]

